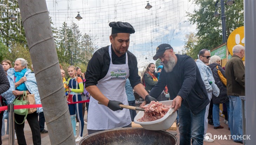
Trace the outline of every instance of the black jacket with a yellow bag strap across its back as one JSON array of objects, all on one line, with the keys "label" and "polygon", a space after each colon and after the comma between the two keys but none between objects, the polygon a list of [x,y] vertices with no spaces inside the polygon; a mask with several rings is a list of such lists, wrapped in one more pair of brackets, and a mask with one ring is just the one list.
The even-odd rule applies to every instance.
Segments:
[{"label": "black jacket with a yellow bag strap across its back", "polygon": [[226,86],[222,83],[220,76],[218,75],[218,71],[216,66],[218,65],[218,69],[220,69],[222,75],[224,77],[226,77],[225,75],[225,70],[221,67],[220,64],[217,63],[212,63],[209,64],[208,66],[211,68],[211,72],[213,72],[213,77],[215,80],[215,84],[218,86],[218,88],[220,89],[220,95],[218,97],[213,95],[213,103],[214,104],[221,104],[221,103],[225,103],[229,100],[228,96],[227,96],[227,88]]}]

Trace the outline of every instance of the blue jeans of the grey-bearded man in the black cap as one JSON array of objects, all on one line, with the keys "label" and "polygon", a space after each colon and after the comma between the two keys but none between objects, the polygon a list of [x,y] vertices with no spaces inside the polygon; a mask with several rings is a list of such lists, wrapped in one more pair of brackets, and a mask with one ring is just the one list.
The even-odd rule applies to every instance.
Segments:
[{"label": "blue jeans of the grey-bearded man in the black cap", "polygon": [[194,115],[190,109],[181,104],[178,110],[180,122],[180,145],[203,145],[204,115],[206,109]]}]

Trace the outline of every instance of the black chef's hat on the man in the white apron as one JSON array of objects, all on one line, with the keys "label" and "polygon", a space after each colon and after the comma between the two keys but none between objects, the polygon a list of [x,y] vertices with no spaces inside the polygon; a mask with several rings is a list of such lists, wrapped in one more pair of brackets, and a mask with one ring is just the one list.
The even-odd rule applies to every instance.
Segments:
[{"label": "black chef's hat on the man in the white apron", "polygon": [[109,27],[112,27],[112,33],[135,33],[135,30],[132,25],[127,22],[110,22]]}]

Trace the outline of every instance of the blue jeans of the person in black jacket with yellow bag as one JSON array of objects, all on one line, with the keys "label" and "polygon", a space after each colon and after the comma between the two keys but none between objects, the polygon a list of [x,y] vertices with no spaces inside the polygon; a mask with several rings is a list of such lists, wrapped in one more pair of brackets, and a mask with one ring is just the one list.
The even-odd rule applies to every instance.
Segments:
[{"label": "blue jeans of the person in black jacket with yellow bag", "polygon": [[[227,106],[229,116],[229,101],[224,103]],[[220,126],[220,104],[213,104],[213,126]]]}]

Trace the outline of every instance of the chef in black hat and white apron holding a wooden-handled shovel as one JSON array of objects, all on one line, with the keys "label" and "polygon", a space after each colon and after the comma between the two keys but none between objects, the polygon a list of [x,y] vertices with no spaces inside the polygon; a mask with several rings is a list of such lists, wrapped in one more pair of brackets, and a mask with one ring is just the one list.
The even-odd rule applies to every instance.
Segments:
[{"label": "chef in black hat and white apron holding a wooden-handled shovel", "polygon": [[156,100],[141,84],[136,57],[128,51],[130,34],[135,33],[133,26],[127,22],[110,22],[109,26],[112,27],[109,36],[111,45],[93,54],[85,76],[86,90],[92,96],[88,110],[88,134],[116,127],[131,127],[129,109],[119,106],[128,105],[125,92],[127,78],[147,103]]}]

